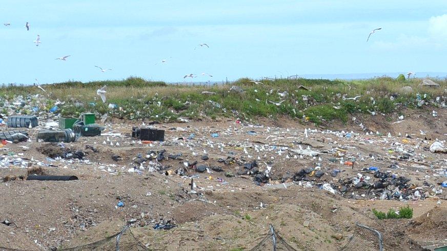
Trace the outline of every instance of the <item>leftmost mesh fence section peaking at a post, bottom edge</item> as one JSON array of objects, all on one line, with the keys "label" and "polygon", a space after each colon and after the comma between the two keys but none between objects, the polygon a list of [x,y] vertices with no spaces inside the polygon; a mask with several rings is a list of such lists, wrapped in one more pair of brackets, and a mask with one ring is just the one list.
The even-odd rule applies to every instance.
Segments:
[{"label": "leftmost mesh fence section peaking at a post, bottom edge", "polygon": [[[107,237],[105,239],[77,247],[71,248],[54,248],[52,250],[67,250],[67,251],[140,251],[148,250],[143,244],[141,244],[130,231],[129,226],[126,226],[121,232]],[[0,251],[24,251],[21,249],[0,247]],[[30,250],[27,250],[30,251]]]}]

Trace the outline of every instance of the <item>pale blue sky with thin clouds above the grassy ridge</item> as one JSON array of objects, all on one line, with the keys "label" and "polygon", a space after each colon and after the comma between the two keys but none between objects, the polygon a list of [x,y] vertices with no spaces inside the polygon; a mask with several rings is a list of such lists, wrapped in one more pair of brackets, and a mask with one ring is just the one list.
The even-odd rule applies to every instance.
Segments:
[{"label": "pale blue sky with thin clouds above the grassy ridge", "polygon": [[8,0],[0,23],[0,83],[447,72],[445,0]]}]

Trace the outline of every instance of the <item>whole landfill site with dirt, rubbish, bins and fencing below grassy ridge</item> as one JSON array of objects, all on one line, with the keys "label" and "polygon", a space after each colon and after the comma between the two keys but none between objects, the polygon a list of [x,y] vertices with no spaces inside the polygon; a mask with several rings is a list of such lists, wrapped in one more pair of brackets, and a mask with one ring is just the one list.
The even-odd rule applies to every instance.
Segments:
[{"label": "whole landfill site with dirt, rubbish, bins and fencing below grassy ridge", "polygon": [[0,250],[447,244],[445,103],[316,126],[282,115],[73,118],[33,113],[26,98],[3,100]]}]

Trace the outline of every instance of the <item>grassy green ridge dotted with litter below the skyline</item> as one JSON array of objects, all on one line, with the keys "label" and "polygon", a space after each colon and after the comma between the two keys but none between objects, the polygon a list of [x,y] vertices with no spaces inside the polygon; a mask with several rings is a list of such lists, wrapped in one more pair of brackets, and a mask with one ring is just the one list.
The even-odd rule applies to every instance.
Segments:
[{"label": "grassy green ridge dotted with litter below the skyline", "polygon": [[[317,124],[339,119],[347,121],[349,114],[388,114],[405,107],[417,109],[421,106],[440,106],[445,102],[446,81],[436,79],[441,88],[421,88],[421,79],[398,81],[389,77],[368,80],[327,79],[276,79],[262,80],[255,85],[250,79],[242,78],[231,85],[176,86],[164,82],[150,82],[130,77],[118,81],[64,82],[43,86],[47,93],[45,109],[56,100],[64,116],[78,116],[83,112],[127,119],[151,119],[175,121],[178,117],[197,119],[203,116],[234,116],[245,119],[254,117],[274,118],[287,115],[309,120]],[[107,102],[103,103],[96,90],[107,85]],[[240,86],[243,93],[233,93],[232,85]],[[298,89],[305,86],[310,90]],[[403,86],[411,86],[412,93],[403,93]],[[201,94],[215,92],[214,95]],[[36,87],[10,86],[0,89],[0,97],[11,99],[14,95],[42,94]],[[416,93],[421,94],[417,99]],[[357,100],[343,98],[361,96]],[[436,100],[439,97],[439,100]],[[284,101],[282,101],[284,100]],[[422,103],[423,100],[423,103]],[[270,102],[271,101],[271,102]],[[282,103],[277,106],[272,102]],[[121,109],[109,109],[114,103]],[[419,103],[419,106],[418,106]],[[22,111],[27,113],[27,111]]]}]

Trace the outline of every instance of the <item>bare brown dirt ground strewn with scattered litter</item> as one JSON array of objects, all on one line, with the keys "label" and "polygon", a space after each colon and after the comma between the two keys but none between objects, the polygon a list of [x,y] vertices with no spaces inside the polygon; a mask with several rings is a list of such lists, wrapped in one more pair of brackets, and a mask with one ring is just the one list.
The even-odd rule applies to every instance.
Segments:
[{"label": "bare brown dirt ground strewn with scattered litter", "polygon": [[[447,155],[428,151],[433,140],[446,139],[447,115],[439,110],[439,116],[432,117],[430,112],[408,112],[404,122],[394,124],[397,115],[391,119],[357,117],[347,124],[326,124],[324,129],[285,118],[259,124],[233,119],[154,124],[166,134],[165,142],[152,144],[130,137],[132,126],[141,126],[141,121],[116,120],[106,122],[106,135],[82,137],[74,143],[6,144],[0,148],[0,177],[7,177],[0,182],[0,221],[11,224],[0,224],[0,246],[27,250],[74,247],[111,236],[131,219],[136,220],[131,228],[135,237],[154,250],[250,249],[266,236],[270,224],[300,250],[337,250],[348,242],[356,222],[380,231],[387,250],[420,250],[421,245],[447,242],[447,191],[440,186],[447,179]],[[304,133],[309,127],[312,130]],[[369,131],[373,135],[365,135]],[[218,137],[212,137],[213,133]],[[320,154],[312,157],[291,151],[300,147]],[[145,158],[154,151],[156,158],[160,150],[166,150],[162,160],[147,156],[140,165],[138,154]],[[82,151],[85,156],[82,160],[70,154],[57,158],[67,151],[75,155]],[[175,154],[181,156],[168,157]],[[115,161],[112,155],[121,158]],[[202,160],[204,155],[209,159]],[[219,161],[228,157],[234,159]],[[356,159],[354,168],[344,164],[352,158]],[[247,174],[243,164],[253,160],[262,174],[271,167],[268,182],[258,185],[254,175]],[[175,173],[183,169],[184,162],[194,161],[196,166],[206,165],[210,173],[195,172],[192,166],[185,176]],[[411,179],[410,188],[400,190],[411,196],[380,200],[380,189],[356,189],[349,183],[360,174],[374,184],[378,180],[374,172],[363,170],[371,166]],[[47,175],[79,179],[26,180],[27,171],[37,167]],[[316,177],[311,173],[292,183],[295,173],[306,168],[324,174]],[[340,172],[333,177],[333,170]],[[187,175],[198,175],[193,193]],[[326,183],[335,194],[320,189]],[[415,190],[424,199],[415,198]],[[123,207],[117,206],[119,201],[124,202]],[[413,219],[377,220],[371,211],[387,212],[405,205],[414,209]],[[163,219],[176,226],[154,230]]]}]

